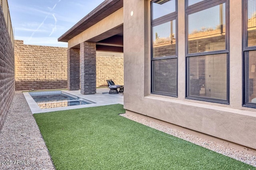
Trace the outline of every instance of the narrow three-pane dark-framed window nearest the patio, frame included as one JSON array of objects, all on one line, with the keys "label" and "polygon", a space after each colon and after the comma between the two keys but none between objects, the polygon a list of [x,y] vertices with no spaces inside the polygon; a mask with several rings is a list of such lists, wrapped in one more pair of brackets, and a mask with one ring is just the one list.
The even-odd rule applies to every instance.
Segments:
[{"label": "narrow three-pane dark-framed window nearest the patio, frame included", "polygon": [[152,94],[177,97],[176,0],[151,2]]}]

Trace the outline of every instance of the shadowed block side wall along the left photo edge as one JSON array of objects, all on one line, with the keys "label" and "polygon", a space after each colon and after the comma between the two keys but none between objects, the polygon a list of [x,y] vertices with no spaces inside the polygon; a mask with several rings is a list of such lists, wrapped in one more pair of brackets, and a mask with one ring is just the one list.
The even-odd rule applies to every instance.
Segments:
[{"label": "shadowed block side wall along the left photo edge", "polygon": [[14,49],[0,6],[0,131],[15,92]]}]

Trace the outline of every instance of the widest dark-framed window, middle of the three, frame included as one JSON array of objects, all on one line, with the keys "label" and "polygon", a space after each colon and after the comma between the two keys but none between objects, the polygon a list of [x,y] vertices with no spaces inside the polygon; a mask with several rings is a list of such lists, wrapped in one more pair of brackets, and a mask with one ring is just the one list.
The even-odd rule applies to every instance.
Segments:
[{"label": "widest dark-framed window, middle of the three, frame included", "polygon": [[209,2],[187,0],[186,98],[228,104],[228,0]]}]

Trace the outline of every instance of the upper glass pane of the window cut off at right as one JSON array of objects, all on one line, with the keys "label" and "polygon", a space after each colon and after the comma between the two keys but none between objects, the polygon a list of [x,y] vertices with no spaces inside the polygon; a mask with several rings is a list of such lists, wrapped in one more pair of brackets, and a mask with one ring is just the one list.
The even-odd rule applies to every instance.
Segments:
[{"label": "upper glass pane of the window cut off at right", "polygon": [[256,45],[256,0],[248,0],[248,47]]}]

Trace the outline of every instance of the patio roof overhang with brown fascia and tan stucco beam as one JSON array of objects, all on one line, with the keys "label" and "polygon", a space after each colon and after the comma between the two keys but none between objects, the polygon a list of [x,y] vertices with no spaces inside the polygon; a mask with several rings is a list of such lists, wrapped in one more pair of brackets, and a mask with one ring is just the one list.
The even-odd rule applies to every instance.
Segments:
[{"label": "patio roof overhang with brown fascia and tan stucco beam", "polygon": [[[105,0],[59,37],[58,41],[68,42],[68,48],[79,48],[80,43],[87,41],[97,43],[99,51],[123,52],[120,50],[123,44],[118,41],[123,36],[122,7],[123,0]],[[113,41],[115,38],[118,40]],[[100,41],[104,41],[104,44]]]}]

